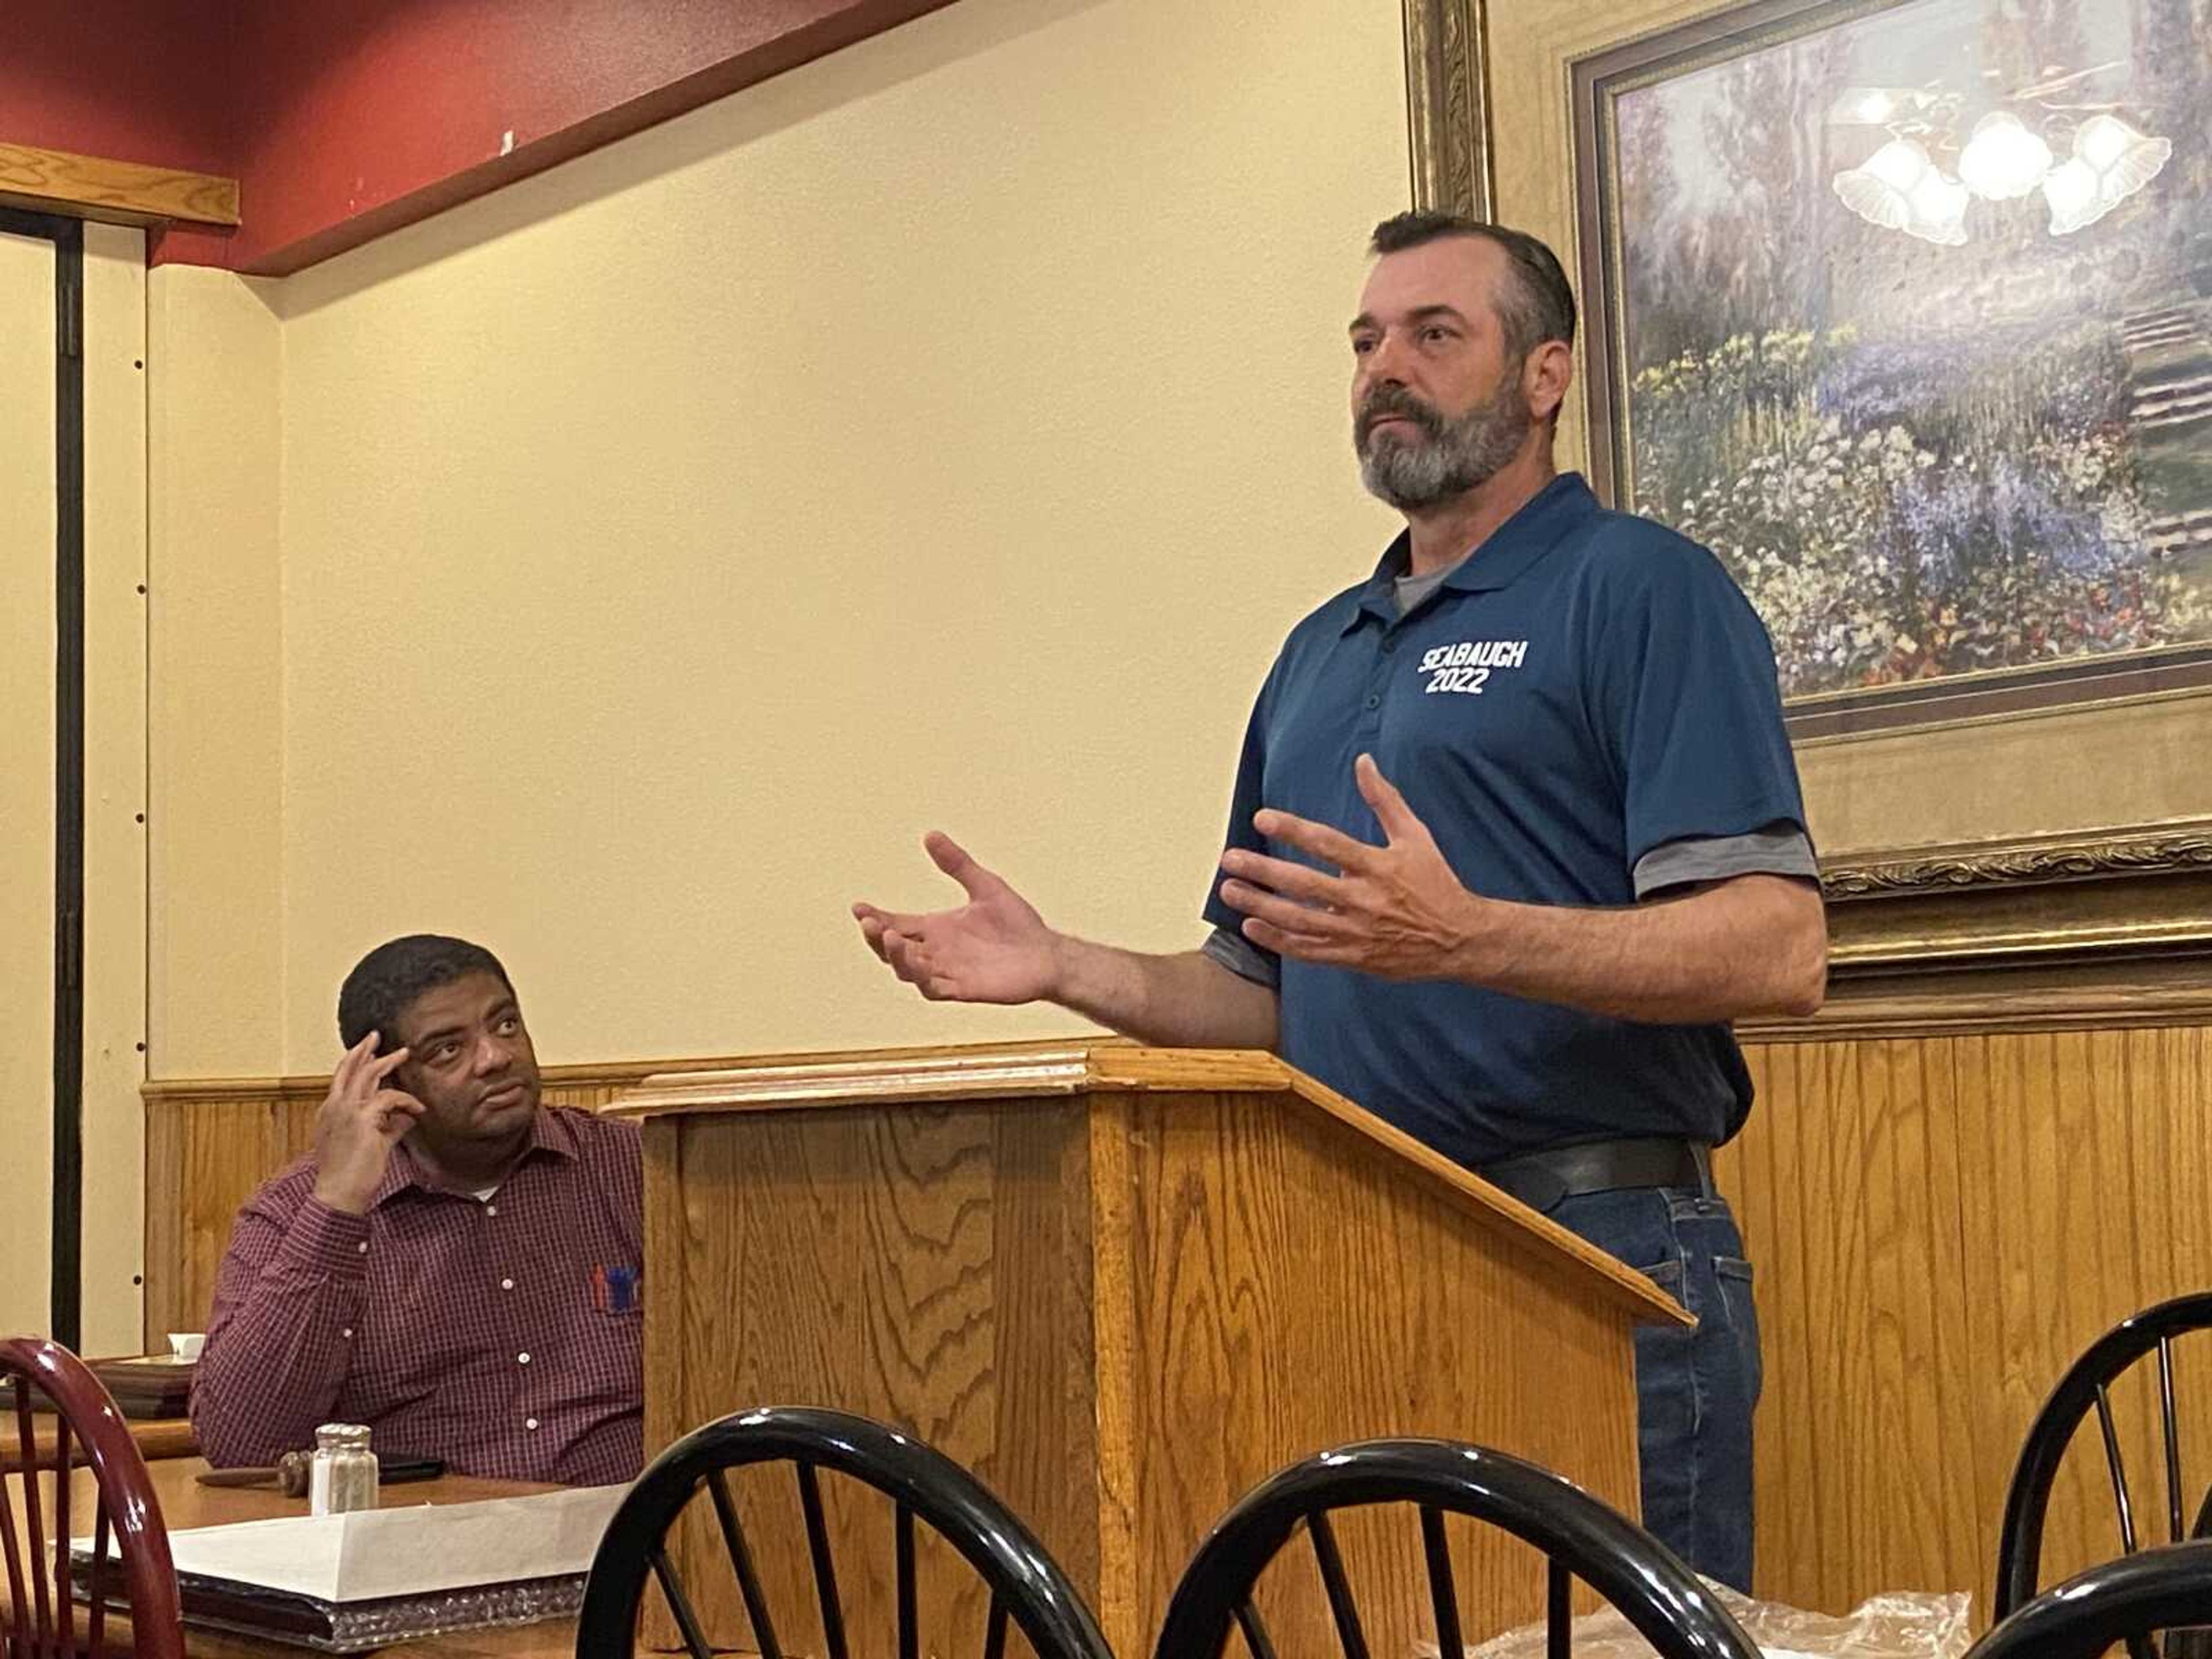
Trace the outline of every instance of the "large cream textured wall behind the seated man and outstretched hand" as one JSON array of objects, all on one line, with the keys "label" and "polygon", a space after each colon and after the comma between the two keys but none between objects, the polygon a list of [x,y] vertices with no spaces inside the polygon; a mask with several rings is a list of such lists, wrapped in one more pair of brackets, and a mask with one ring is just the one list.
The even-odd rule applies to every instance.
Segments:
[{"label": "large cream textured wall behind the seated man and outstretched hand", "polygon": [[[1274,646],[1391,533],[1343,325],[1405,177],[1387,0],[962,0],[285,281],[283,1064],[418,927],[549,1060],[1066,1029],[865,956],[854,896],[951,894],[929,825],[1194,945]],[[170,918],[226,975],[279,967],[208,914],[272,774]]]}]

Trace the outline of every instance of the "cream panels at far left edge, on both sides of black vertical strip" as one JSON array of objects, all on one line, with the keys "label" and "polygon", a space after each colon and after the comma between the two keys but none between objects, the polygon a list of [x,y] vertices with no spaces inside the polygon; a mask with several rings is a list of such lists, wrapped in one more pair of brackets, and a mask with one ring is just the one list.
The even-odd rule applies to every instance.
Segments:
[{"label": "cream panels at far left edge, on both sides of black vertical strip", "polygon": [[[84,228],[84,1073],[80,1345],[137,1345],[146,1031],[146,250]],[[53,1155],[53,243],[0,237],[0,1329],[49,1332]]]}]

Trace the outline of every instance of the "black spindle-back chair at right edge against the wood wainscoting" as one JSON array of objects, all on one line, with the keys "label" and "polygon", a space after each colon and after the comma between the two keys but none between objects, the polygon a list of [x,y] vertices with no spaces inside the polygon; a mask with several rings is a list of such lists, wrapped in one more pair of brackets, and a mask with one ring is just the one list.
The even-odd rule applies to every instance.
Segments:
[{"label": "black spindle-back chair at right edge against the wood wainscoting", "polygon": [[[2166,1542],[2181,1544],[2212,1533],[2212,1493],[2190,1502],[2181,1471],[2181,1425],[2174,1411],[2174,1338],[2185,1332],[2212,1329],[2212,1296],[2177,1296],[2146,1307],[2099,1336],[2068,1367],[2066,1376],[2035,1413],[2028,1438],[2013,1467],[2013,1484],[2004,1495],[2004,1531],[1997,1540],[1995,1621],[2022,1610],[2037,1590],[2044,1557],[2044,1520],[2051,1511],[2051,1486],[2057,1480],[2066,1449],[2090,1411],[2104,1438],[2106,1471],[2112,1478],[2112,1502],[2119,1511],[2121,1555],[2141,1548],[2137,1502],[2119,1451],[2119,1429],[2112,1420],[2112,1383],[2137,1360],[2157,1354],[2159,1429],[2166,1449]],[[2079,1579],[2075,1579],[2079,1582]],[[2150,1648],[2130,1644],[2135,1659],[2148,1659]]]}]

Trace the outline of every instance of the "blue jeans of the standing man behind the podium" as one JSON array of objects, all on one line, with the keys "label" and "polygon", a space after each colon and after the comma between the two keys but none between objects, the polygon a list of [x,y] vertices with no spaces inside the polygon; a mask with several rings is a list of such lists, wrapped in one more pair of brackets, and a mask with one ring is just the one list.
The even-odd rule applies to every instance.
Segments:
[{"label": "blue jeans of the standing man behind the podium", "polygon": [[1750,1595],[1759,1314],[1728,1201],[1628,1188],[1559,1199],[1551,1219],[1697,1314],[1697,1329],[1637,1329],[1644,1526],[1705,1577]]}]

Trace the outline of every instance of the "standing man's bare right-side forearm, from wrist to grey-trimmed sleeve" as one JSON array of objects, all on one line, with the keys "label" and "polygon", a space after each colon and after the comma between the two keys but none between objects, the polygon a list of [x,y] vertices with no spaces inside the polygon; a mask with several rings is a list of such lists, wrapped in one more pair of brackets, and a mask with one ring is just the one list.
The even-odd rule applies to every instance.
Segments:
[{"label": "standing man's bare right-side forearm, from wrist to grey-trimmed sleeve", "polygon": [[1807,1015],[1827,984],[1827,920],[1818,889],[1790,876],[1632,909],[1480,900],[1453,978],[1652,1024]]}]

